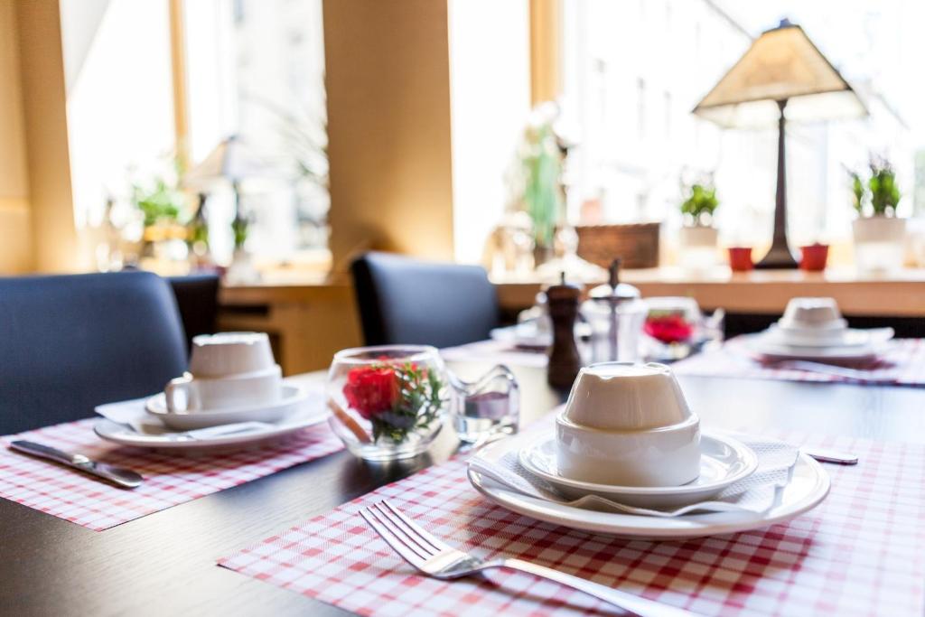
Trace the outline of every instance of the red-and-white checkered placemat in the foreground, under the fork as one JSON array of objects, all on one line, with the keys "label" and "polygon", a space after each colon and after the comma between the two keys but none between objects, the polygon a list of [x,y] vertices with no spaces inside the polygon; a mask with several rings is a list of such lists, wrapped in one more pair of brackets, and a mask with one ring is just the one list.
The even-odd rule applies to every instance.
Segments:
[{"label": "red-and-white checkered placemat in the foreground, under the fork", "polygon": [[[787,436],[791,439],[796,436]],[[539,523],[493,506],[462,460],[364,495],[221,565],[362,615],[573,615],[608,611],[527,574],[438,581],[415,574],[358,511],[388,499],[450,544],[516,556],[703,614],[918,615],[925,610],[925,446],[865,439],[801,442],[851,450],[827,465],[833,487],[786,524],[685,541],[649,542]],[[612,614],[612,612],[610,613]]]}]

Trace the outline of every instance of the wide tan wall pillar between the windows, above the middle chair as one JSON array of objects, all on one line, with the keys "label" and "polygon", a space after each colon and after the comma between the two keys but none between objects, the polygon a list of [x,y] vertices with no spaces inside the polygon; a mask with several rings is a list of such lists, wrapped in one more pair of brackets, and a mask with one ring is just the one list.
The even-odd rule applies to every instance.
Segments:
[{"label": "wide tan wall pillar between the windows, above the middle chair", "polygon": [[447,3],[327,0],[331,253],[453,257]]}]

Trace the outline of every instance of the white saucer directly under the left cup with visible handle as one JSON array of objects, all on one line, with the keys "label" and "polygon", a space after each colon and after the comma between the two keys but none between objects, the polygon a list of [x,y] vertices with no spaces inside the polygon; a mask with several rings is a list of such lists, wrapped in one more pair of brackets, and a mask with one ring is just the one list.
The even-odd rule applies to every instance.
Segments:
[{"label": "white saucer directly under the left cup with visible handle", "polygon": [[166,426],[180,431],[237,422],[278,422],[298,410],[307,397],[297,386],[283,384],[281,389],[279,401],[263,405],[173,413],[167,411],[164,392],[160,392],[145,401],[144,407]]}]

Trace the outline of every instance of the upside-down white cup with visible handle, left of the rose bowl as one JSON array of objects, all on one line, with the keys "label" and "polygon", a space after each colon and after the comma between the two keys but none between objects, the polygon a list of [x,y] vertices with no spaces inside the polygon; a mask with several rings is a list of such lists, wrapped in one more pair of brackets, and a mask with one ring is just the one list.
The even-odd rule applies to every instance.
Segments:
[{"label": "upside-down white cup with visible handle, left of the rose bowl", "polygon": [[282,369],[269,338],[258,332],[223,332],[192,339],[190,371],[164,388],[171,413],[228,410],[278,402]]}]

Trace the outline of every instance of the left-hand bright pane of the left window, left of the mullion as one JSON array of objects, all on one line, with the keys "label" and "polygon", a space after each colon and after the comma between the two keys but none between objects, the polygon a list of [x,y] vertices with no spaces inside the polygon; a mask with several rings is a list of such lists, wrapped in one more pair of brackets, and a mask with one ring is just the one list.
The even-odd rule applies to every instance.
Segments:
[{"label": "left-hand bright pane of the left window, left of the mullion", "polygon": [[74,220],[88,228],[174,149],[169,18],[156,0],[60,9]]}]

